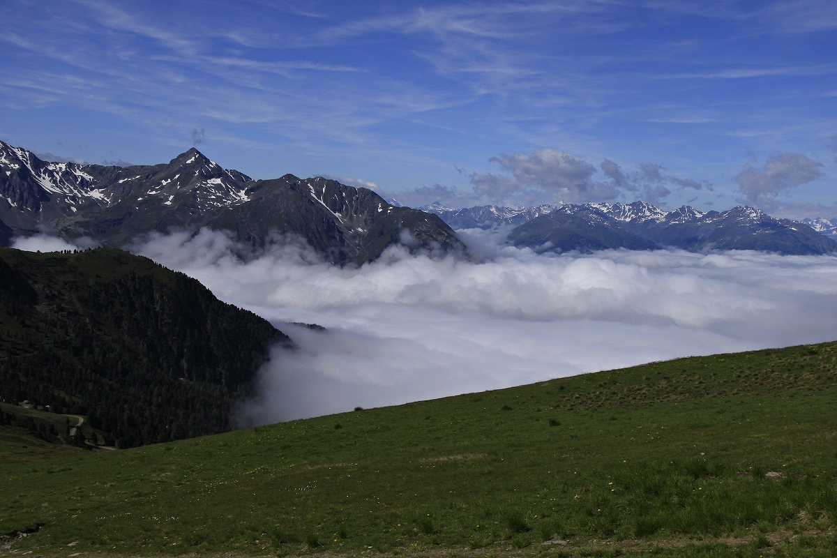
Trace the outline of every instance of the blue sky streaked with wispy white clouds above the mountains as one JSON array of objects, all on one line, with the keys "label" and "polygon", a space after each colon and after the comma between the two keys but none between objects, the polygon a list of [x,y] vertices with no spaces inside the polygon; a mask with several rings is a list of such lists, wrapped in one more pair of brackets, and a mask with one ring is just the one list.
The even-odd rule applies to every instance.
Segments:
[{"label": "blue sky streaked with wispy white clouds above the mountains", "polygon": [[0,139],[412,205],[837,218],[837,4],[0,4]]}]

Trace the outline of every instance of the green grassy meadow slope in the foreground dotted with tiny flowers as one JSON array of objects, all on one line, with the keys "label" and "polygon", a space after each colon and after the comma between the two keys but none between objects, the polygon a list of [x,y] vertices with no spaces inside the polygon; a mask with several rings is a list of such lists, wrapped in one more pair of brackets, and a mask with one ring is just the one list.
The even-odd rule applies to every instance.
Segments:
[{"label": "green grassy meadow slope in the foreground dotted with tiny flowers", "polygon": [[0,438],[0,533],[18,555],[833,556],[835,366],[837,343],[694,357],[126,451]]}]

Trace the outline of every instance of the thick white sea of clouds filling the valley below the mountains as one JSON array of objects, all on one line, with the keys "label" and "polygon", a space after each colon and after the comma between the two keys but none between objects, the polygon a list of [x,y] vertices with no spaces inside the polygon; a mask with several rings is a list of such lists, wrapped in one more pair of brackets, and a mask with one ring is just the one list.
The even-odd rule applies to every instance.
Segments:
[{"label": "thick white sea of clouds filling the valley below the mountains", "polygon": [[[837,339],[837,258],[608,250],[538,255],[460,231],[473,259],[390,248],[339,268],[293,238],[227,234],[131,246],[295,341],[259,373],[247,424],[511,387],[679,356]],[[73,248],[45,236],[17,248]],[[312,330],[291,322],[317,324]]]}]

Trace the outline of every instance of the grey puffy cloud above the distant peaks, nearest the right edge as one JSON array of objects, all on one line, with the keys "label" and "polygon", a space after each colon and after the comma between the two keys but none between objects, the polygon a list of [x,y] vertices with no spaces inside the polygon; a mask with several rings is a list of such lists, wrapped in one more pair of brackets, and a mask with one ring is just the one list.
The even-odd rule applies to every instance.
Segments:
[{"label": "grey puffy cloud above the distant peaks, nearest the right edge", "polygon": [[764,169],[759,170],[749,163],[733,180],[742,192],[742,201],[764,202],[780,193],[824,177],[823,165],[799,153],[774,153],[768,157]]}]

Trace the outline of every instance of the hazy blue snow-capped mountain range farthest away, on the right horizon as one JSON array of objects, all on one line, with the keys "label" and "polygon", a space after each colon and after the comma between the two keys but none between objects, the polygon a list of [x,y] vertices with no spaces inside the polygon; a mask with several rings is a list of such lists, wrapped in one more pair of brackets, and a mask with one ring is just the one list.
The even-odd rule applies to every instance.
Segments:
[{"label": "hazy blue snow-capped mountain range farthest away, on the right horizon", "polygon": [[423,209],[436,213],[452,228],[513,226],[509,241],[537,252],[590,252],[605,248],[682,248],[691,252],[737,249],[784,254],[837,252],[837,242],[827,236],[837,229],[830,222],[811,221],[816,227],[812,228],[806,223],[772,218],[752,207],[701,212],[684,206],[665,212],[647,202],[521,209],[496,206],[451,209],[437,203]]}]

